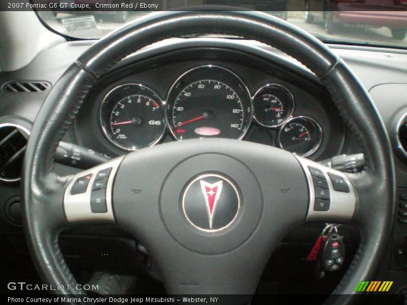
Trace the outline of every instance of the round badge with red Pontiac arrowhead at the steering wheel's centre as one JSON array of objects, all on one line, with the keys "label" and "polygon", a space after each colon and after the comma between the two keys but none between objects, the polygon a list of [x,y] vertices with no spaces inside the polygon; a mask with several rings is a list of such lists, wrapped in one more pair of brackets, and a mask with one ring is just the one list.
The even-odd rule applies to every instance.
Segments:
[{"label": "round badge with red Pontiac arrowhead at the steering wheel's centre", "polygon": [[204,174],[186,187],[182,208],[187,221],[196,229],[216,232],[236,220],[240,196],[231,180],[218,174]]}]

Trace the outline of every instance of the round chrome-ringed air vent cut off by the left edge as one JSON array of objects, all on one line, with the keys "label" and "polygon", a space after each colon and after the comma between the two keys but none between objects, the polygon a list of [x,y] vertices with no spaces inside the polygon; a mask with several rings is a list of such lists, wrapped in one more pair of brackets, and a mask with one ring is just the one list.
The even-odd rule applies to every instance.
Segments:
[{"label": "round chrome-ringed air vent cut off by the left edge", "polygon": [[0,180],[17,181],[29,132],[15,124],[0,124]]}]

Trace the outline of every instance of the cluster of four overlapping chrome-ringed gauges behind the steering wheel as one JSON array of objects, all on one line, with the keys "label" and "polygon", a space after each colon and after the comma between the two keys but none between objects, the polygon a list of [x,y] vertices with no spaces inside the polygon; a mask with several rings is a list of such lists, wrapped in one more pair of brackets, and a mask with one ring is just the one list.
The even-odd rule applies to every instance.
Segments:
[{"label": "cluster of four overlapping chrome-ringed gauges behind the steering wheel", "polygon": [[250,126],[278,130],[278,145],[310,156],[322,142],[322,128],[309,116],[293,116],[295,99],[280,84],[264,84],[251,96],[234,72],[215,65],[186,71],[162,101],[151,88],[125,83],[101,101],[100,127],[107,140],[132,151],[159,143],[165,134],[192,138],[244,139]]}]

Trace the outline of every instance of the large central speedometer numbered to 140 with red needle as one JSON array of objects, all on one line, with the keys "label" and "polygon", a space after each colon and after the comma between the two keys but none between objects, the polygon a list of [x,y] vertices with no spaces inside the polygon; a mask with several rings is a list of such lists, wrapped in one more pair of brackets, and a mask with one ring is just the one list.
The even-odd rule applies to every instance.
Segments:
[{"label": "large central speedometer numbered to 140 with red needle", "polygon": [[166,117],[178,139],[241,139],[251,120],[249,92],[234,73],[216,66],[198,67],[171,87]]}]

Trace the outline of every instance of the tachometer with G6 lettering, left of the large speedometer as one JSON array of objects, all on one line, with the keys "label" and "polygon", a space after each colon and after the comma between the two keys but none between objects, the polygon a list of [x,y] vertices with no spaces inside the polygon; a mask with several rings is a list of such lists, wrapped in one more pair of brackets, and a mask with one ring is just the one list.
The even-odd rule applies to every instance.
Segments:
[{"label": "tachometer with G6 lettering, left of the large speedometer", "polygon": [[103,99],[100,121],[106,138],[125,150],[137,150],[157,143],[165,125],[162,103],[149,88],[124,84]]}]

